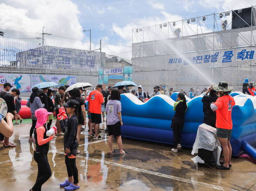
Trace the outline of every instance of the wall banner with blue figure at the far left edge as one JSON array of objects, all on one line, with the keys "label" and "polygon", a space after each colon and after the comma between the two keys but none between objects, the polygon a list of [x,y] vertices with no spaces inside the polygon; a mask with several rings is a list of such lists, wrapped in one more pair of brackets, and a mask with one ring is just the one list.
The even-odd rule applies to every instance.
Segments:
[{"label": "wall banner with blue figure at the far left edge", "polygon": [[30,74],[11,74],[0,73],[0,90],[3,90],[3,84],[9,82],[13,88],[20,92],[30,92]]}]

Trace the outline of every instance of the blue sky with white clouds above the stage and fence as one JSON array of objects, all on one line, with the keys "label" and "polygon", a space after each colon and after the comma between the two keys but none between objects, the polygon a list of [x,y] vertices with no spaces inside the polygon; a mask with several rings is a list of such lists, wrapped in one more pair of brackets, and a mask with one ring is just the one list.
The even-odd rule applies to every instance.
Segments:
[{"label": "blue sky with white clouds above the stage and fence", "polygon": [[[131,59],[132,29],[256,5],[255,0],[0,0],[3,40],[91,49]],[[229,18],[230,19],[230,18]],[[207,20],[206,20],[207,21]],[[191,23],[192,24],[192,23]],[[195,25],[191,25],[195,27]],[[202,26],[204,31],[209,29]]]}]

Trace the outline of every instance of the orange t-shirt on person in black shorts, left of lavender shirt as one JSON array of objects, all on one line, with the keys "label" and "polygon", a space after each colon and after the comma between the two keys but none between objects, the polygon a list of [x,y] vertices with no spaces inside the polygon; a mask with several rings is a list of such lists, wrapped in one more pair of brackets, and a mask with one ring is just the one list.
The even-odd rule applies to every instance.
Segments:
[{"label": "orange t-shirt on person in black shorts, left of lavender shirt", "polygon": [[91,113],[101,114],[101,103],[104,98],[101,92],[94,90],[89,94],[88,102],[90,103],[89,109]]}]

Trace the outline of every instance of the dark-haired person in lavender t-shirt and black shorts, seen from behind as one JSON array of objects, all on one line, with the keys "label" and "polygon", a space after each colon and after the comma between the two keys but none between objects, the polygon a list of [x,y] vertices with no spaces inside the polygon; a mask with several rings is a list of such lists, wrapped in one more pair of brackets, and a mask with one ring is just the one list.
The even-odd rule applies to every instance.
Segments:
[{"label": "dark-haired person in lavender t-shirt and black shorts, seen from behind", "polygon": [[112,149],[112,143],[113,136],[115,136],[117,138],[120,155],[126,155],[127,152],[122,148],[121,126],[123,122],[121,116],[121,102],[119,100],[120,92],[117,89],[113,89],[105,110],[107,114],[108,147],[109,153],[113,154],[115,150]]}]

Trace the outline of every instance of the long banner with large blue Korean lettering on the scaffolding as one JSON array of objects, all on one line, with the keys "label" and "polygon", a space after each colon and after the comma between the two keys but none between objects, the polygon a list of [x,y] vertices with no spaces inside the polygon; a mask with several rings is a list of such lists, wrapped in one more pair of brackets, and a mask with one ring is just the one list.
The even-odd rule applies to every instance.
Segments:
[{"label": "long banner with large blue Korean lettering on the scaffolding", "polygon": [[223,53],[215,52],[213,54],[207,54],[205,53],[203,55],[197,55],[197,56],[186,56],[186,59],[175,57],[175,58],[169,58],[168,63],[169,64],[183,64],[188,65],[188,61],[192,64],[204,64],[204,63],[231,63],[231,62],[237,62],[237,61],[250,61],[255,60],[255,49],[229,49],[224,51]]}]

